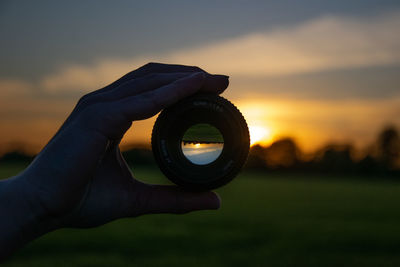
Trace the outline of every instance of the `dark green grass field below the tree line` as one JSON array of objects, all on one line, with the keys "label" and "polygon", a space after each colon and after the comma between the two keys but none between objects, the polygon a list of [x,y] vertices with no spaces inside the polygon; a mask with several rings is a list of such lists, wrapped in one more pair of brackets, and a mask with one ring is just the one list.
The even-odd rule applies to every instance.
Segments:
[{"label": "dark green grass field below the tree line", "polygon": [[55,231],[4,266],[400,266],[400,183],[247,172],[218,192],[219,211]]}]

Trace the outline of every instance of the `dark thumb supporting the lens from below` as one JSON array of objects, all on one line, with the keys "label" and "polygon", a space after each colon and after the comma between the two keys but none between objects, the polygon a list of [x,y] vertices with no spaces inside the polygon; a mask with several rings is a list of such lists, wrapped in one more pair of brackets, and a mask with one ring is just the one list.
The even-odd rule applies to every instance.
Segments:
[{"label": "dark thumb supporting the lens from below", "polygon": [[138,197],[142,204],[142,214],[216,210],[221,203],[214,192],[187,192],[172,185],[146,185]]}]

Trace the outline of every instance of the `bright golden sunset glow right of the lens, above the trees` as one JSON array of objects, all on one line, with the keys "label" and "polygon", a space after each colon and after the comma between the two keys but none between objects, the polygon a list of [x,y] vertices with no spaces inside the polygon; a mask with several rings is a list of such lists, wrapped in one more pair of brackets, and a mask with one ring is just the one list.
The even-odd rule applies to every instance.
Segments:
[{"label": "bright golden sunset glow right of the lens, above the trees", "polygon": [[[235,104],[247,121],[252,146],[292,138],[308,153],[331,143],[351,143],[364,149],[376,140],[387,121],[400,125],[400,120],[390,115],[396,113],[399,101],[265,99],[260,95],[238,99]],[[263,130],[254,126],[265,127],[269,133],[263,136]]]}]

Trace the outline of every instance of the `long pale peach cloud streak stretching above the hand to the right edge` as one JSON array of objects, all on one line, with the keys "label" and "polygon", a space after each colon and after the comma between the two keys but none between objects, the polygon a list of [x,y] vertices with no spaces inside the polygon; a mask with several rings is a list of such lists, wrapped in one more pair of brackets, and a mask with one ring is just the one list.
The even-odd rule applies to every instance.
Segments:
[{"label": "long pale peach cloud streak stretching above the hand to the right edge", "polygon": [[88,91],[149,61],[198,65],[236,76],[282,76],[400,63],[400,12],[376,17],[325,16],[165,55],[64,66],[41,80],[48,92]]}]

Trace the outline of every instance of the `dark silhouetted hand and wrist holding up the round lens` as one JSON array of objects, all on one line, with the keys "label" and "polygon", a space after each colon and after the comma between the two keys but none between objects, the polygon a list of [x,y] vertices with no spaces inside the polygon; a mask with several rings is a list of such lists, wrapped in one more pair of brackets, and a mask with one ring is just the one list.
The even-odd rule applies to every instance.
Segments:
[{"label": "dark silhouetted hand and wrist holding up the round lens", "polygon": [[0,212],[10,218],[0,222],[0,247],[8,248],[0,254],[57,228],[219,208],[213,192],[135,180],[118,145],[132,121],[150,118],[198,91],[219,94],[227,86],[227,76],[197,67],[150,63],[82,97],[32,164],[0,183]]}]

